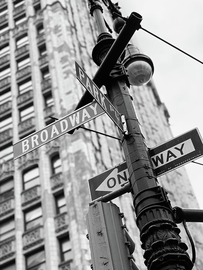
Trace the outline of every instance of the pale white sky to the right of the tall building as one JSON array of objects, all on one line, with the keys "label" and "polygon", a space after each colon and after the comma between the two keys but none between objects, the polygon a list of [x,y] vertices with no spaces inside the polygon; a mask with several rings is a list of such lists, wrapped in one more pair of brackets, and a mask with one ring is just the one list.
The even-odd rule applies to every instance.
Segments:
[{"label": "pale white sky to the right of the tall building", "polygon": [[[118,4],[123,16],[139,13],[143,28],[203,62],[202,0],[119,0]],[[196,127],[203,136],[203,64],[141,29],[135,32],[135,40],[153,61],[153,79],[171,116],[174,137]],[[203,158],[196,162],[203,164]],[[190,162],[184,167],[203,209],[203,166]]]}]

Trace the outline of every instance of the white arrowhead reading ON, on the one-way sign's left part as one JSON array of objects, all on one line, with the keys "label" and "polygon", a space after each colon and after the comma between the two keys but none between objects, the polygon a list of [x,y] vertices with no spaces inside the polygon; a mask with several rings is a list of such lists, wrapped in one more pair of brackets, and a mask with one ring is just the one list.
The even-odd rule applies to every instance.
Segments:
[{"label": "white arrowhead reading ON, on the one-way sign's left part", "polygon": [[97,187],[96,191],[115,191],[128,183],[129,173],[125,169],[118,173],[118,168],[115,168],[109,176]]}]

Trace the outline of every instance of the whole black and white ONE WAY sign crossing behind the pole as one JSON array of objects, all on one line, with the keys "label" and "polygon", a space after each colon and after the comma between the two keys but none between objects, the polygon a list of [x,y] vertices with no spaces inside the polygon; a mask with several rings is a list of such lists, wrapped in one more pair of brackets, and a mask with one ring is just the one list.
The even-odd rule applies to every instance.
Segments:
[{"label": "whole black and white ONE WAY sign crossing behind the pole", "polygon": [[[203,155],[203,141],[198,128],[194,128],[180,136],[149,150],[156,176],[175,170]],[[112,191],[118,190],[128,183],[126,162],[106,170],[89,179],[91,199],[95,200]]]}]

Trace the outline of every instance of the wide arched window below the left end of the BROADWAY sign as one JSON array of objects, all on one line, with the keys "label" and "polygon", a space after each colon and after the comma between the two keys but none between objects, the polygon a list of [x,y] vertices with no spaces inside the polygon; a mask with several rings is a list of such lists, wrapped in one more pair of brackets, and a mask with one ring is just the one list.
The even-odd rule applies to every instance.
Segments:
[{"label": "wide arched window below the left end of the BROADWAY sign", "polygon": [[23,189],[29,189],[38,185],[39,182],[39,168],[32,168],[25,173],[23,173]]}]

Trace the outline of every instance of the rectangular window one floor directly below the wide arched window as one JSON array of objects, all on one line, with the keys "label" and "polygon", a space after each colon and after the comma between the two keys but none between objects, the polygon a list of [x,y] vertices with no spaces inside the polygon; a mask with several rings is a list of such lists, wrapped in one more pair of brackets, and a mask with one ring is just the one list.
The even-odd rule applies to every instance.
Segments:
[{"label": "rectangular window one floor directly below the wide arched window", "polygon": [[32,208],[25,212],[25,231],[42,225],[42,208],[41,206]]}]

